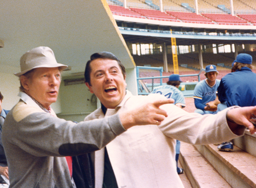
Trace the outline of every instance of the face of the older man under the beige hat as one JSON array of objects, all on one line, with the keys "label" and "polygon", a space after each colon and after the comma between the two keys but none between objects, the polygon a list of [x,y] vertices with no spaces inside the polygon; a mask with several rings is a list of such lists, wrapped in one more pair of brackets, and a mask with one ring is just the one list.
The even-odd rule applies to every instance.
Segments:
[{"label": "face of the older man under the beige hat", "polygon": [[[40,102],[46,109],[56,102],[60,86],[60,71],[54,68],[35,68],[31,78],[24,78],[26,93]],[[23,79],[20,77],[20,80]]]}]

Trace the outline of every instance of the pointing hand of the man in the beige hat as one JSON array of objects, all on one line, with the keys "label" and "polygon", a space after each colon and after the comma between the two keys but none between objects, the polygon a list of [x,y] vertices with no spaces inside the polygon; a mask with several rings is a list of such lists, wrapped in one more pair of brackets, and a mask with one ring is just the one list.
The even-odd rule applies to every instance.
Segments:
[{"label": "pointing hand of the man in the beige hat", "polygon": [[161,121],[167,117],[167,113],[160,109],[159,106],[167,103],[174,103],[174,99],[157,100],[146,103],[132,111],[120,113],[121,123],[125,129],[135,125],[160,125]]}]

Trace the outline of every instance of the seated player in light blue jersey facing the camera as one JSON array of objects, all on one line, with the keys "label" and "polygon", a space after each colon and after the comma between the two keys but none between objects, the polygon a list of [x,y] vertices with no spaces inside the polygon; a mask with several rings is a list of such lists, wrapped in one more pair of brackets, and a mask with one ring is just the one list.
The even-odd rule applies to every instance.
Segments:
[{"label": "seated player in light blue jersey facing the camera", "polygon": [[194,89],[194,99],[196,106],[196,113],[212,114],[217,111],[217,105],[214,104],[216,99],[217,89],[220,85],[220,80],[216,79],[218,71],[215,65],[207,65],[205,67],[206,79],[200,81]]}]

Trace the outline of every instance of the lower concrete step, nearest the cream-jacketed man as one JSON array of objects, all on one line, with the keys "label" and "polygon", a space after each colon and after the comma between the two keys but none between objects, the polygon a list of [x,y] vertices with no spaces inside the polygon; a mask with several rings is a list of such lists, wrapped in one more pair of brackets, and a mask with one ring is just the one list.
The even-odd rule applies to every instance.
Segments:
[{"label": "lower concrete step, nearest the cream-jacketed man", "polygon": [[182,142],[179,160],[193,188],[231,188],[194,146]]}]

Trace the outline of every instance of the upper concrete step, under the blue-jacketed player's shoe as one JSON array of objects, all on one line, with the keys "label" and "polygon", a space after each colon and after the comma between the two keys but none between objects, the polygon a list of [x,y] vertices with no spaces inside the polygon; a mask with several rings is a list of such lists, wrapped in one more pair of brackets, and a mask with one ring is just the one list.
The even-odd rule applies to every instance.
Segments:
[{"label": "upper concrete step, under the blue-jacketed player's shoe", "polygon": [[237,146],[230,152],[219,151],[213,144],[195,147],[233,188],[256,188],[255,156]]}]

